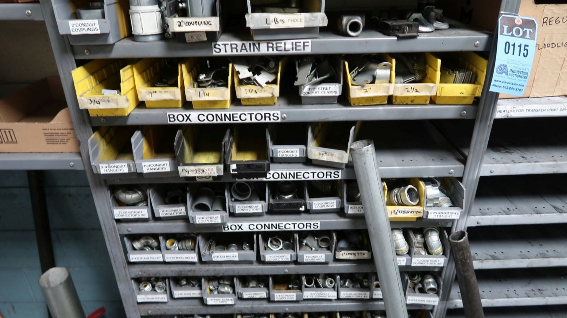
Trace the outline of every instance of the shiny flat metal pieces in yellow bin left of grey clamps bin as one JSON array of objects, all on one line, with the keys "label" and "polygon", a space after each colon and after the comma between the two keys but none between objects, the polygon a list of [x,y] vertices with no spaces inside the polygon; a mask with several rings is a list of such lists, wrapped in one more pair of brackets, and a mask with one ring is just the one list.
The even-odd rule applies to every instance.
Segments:
[{"label": "shiny flat metal pieces in yellow bin left of grey clamps bin", "polygon": [[234,57],[232,65],[242,85],[265,87],[278,78],[278,58],[269,56]]}]

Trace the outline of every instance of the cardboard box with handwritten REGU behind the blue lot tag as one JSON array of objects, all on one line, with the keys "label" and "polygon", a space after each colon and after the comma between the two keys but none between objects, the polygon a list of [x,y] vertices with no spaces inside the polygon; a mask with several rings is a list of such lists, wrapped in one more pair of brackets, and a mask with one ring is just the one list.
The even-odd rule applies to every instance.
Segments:
[{"label": "cardboard box with handwritten REGU behind the blue lot tag", "polygon": [[[444,0],[441,7],[451,18],[494,32],[500,1]],[[534,65],[523,97],[566,95],[567,5],[536,5],[534,0],[522,0],[519,15],[538,22]],[[500,98],[513,97],[518,96],[500,94]]]}]

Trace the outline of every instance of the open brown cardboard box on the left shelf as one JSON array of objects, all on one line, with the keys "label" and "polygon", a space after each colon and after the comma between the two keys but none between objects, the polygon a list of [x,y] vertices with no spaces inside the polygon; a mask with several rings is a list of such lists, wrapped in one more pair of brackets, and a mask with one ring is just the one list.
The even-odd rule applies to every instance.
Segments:
[{"label": "open brown cardboard box on the left shelf", "polygon": [[0,152],[79,152],[59,78],[0,99]]}]

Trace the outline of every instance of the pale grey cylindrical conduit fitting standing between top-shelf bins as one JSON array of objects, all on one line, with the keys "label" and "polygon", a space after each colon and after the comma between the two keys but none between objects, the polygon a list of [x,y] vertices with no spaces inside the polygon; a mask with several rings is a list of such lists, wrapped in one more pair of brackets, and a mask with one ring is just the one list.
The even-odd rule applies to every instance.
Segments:
[{"label": "pale grey cylindrical conduit fitting standing between top-shelf bins", "polygon": [[134,40],[149,42],[163,37],[162,11],[158,0],[129,0]]}]

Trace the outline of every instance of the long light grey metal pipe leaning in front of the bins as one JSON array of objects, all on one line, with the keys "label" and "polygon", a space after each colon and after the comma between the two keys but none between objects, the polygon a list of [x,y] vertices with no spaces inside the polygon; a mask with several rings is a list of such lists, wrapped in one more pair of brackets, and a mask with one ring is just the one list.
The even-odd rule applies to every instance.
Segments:
[{"label": "long light grey metal pipe leaning in front of the bins", "polygon": [[372,252],[374,255],[380,255],[374,257],[374,264],[380,285],[384,290],[386,312],[390,318],[407,318],[405,292],[401,285],[400,269],[393,249],[392,229],[386,211],[382,180],[376,165],[374,142],[369,139],[356,141],[350,146],[350,154],[364,206]]}]

